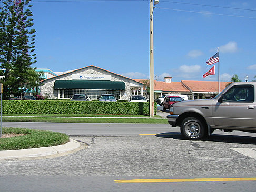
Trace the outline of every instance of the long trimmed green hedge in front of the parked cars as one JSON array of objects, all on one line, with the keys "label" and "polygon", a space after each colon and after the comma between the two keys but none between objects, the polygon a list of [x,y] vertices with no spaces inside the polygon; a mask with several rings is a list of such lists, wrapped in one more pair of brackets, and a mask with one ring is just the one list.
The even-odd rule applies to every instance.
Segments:
[{"label": "long trimmed green hedge in front of the parked cars", "polygon": [[[156,114],[157,105],[154,105]],[[149,103],[67,100],[3,100],[5,114],[120,114],[147,115]]]}]

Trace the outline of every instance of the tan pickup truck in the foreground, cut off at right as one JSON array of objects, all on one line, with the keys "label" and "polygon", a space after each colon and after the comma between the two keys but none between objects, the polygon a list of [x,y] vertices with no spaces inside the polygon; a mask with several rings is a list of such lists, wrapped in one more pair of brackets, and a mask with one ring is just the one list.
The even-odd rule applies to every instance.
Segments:
[{"label": "tan pickup truck in the foreground, cut off at right", "polygon": [[170,107],[168,123],[180,126],[190,140],[210,136],[215,129],[256,132],[256,82],[237,82],[212,99],[188,100]]}]

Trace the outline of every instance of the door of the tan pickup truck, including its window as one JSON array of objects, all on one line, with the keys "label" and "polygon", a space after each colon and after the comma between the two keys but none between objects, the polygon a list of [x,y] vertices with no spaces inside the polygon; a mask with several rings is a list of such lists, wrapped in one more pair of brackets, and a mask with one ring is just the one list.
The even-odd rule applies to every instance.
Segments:
[{"label": "door of the tan pickup truck, including its window", "polygon": [[256,128],[255,87],[234,85],[213,108],[215,126],[219,128]]}]

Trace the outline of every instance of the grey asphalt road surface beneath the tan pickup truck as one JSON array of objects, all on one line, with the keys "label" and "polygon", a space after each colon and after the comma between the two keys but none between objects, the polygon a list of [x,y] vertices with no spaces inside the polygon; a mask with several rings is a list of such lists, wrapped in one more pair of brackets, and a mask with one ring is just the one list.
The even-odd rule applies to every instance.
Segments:
[{"label": "grey asphalt road surface beneath the tan pickup truck", "polygon": [[[168,124],[4,122],[72,135],[85,149],[48,159],[0,161],[1,191],[255,191],[256,134],[220,131],[184,140]],[[254,178],[198,181],[197,178]],[[126,183],[130,179],[159,179]],[[179,182],[163,179],[185,179]],[[125,183],[117,183],[123,180]]]}]

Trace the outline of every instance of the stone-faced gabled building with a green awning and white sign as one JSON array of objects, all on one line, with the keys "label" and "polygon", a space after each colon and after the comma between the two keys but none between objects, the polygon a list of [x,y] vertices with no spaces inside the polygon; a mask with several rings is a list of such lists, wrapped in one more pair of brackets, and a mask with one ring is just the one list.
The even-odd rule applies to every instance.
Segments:
[{"label": "stone-faced gabled building with a green awning and white sign", "polygon": [[57,99],[69,99],[74,94],[87,94],[90,99],[114,94],[117,99],[128,100],[133,90],[138,89],[143,94],[143,83],[93,65],[44,79],[41,83],[41,94]]}]

